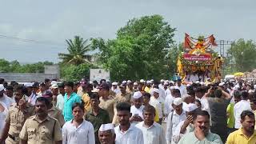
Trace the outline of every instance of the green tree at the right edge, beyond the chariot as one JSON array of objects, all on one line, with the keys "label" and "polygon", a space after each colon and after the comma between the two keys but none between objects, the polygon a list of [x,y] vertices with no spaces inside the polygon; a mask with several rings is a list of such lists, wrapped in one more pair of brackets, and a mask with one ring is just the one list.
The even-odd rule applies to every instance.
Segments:
[{"label": "green tree at the right edge, beyond the chariot", "polygon": [[239,39],[237,42],[233,42],[228,54],[230,54],[230,62],[233,61],[232,64],[234,63],[236,71],[250,71],[256,66],[256,45],[252,40]]}]

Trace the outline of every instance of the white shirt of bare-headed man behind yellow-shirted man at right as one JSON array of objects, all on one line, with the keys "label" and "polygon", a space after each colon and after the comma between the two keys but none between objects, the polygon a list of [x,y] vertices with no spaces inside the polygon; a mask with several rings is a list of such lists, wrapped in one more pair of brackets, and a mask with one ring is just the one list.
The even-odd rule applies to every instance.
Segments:
[{"label": "white shirt of bare-headed man behind yellow-shirted man at right", "polygon": [[234,104],[234,128],[239,129],[242,125],[240,123],[241,114],[243,110],[251,110],[250,102],[241,100]]}]

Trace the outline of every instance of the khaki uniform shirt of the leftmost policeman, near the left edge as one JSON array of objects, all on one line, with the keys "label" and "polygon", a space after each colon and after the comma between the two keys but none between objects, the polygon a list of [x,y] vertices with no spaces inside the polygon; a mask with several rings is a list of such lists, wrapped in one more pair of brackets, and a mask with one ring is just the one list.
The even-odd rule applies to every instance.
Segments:
[{"label": "khaki uniform shirt of the leftmost policeman, near the left edge", "polygon": [[6,144],[19,143],[18,134],[21,132],[26,118],[29,118],[32,114],[34,114],[34,106],[29,103],[26,103],[26,110],[24,113],[19,109],[17,103],[10,106],[9,112],[6,116],[6,122],[10,123],[8,134],[10,134],[14,139],[8,136],[6,138]]}]

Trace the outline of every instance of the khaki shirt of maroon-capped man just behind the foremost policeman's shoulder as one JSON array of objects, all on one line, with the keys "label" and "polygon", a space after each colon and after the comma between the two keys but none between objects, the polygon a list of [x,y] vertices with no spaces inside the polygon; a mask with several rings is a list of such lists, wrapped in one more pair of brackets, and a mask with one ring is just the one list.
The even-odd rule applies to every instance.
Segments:
[{"label": "khaki shirt of maroon-capped man just behind the foremost policeman's shoulder", "polygon": [[58,108],[56,106],[52,106],[50,108],[50,110],[48,110],[48,115],[51,118],[55,118],[58,120],[58,123],[60,124],[60,126],[62,127],[65,123],[64,117],[62,115],[62,111],[58,110]]}]

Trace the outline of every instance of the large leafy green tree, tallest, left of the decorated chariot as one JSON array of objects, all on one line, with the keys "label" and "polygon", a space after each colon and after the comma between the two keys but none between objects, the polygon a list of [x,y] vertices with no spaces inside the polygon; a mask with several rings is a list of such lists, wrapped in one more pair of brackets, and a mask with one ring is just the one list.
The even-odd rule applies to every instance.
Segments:
[{"label": "large leafy green tree, tallest, left of the decorated chariot", "polygon": [[166,78],[174,31],[160,15],[134,18],[118,30],[116,39],[94,38],[92,47],[100,51],[98,62],[113,80]]}]

